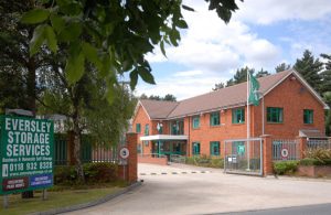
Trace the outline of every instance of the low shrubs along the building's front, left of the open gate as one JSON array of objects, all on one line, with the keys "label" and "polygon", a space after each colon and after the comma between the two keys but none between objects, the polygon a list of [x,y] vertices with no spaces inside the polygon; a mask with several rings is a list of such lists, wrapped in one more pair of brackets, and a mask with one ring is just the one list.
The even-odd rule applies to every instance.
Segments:
[{"label": "low shrubs along the building's front, left of the open gate", "polygon": [[189,157],[185,160],[186,164],[199,165],[204,168],[224,168],[224,159],[220,157]]}]

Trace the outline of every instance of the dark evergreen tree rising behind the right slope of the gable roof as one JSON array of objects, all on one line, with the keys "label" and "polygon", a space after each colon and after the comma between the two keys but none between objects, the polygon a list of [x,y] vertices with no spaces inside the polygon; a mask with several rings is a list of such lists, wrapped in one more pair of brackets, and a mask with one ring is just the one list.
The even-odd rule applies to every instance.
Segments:
[{"label": "dark evergreen tree rising behind the right slope of the gable roof", "polygon": [[309,83],[312,88],[321,93],[320,72],[323,68],[323,63],[319,58],[314,58],[309,50],[303,52],[302,58],[298,58],[295,64],[295,69],[298,71],[302,77]]}]

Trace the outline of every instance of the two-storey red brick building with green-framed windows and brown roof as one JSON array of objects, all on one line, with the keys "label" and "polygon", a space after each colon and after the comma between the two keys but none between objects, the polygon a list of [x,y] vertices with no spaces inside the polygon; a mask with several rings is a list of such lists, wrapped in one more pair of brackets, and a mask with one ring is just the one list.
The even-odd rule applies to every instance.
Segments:
[{"label": "two-storey red brick building with green-framed windows and brown roof", "polygon": [[[324,136],[329,107],[293,69],[258,78],[260,99],[249,106],[250,137]],[[246,138],[246,83],[181,101],[139,100],[132,118],[138,153],[223,155],[223,141]]]}]

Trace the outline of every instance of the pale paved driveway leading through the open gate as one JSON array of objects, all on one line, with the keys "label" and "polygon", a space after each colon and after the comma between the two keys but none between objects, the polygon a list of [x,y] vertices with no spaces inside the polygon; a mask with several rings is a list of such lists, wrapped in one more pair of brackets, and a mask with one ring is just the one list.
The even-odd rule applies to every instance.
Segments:
[{"label": "pale paved driveway leading through the open gate", "polygon": [[331,203],[331,181],[224,174],[189,165],[139,164],[143,184],[68,214],[212,214]]}]

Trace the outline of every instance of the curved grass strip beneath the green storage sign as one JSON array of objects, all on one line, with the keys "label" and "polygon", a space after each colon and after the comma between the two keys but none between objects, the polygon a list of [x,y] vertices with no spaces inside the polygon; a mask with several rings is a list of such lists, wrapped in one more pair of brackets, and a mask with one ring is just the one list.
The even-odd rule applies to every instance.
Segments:
[{"label": "curved grass strip beneath the green storage sign", "polygon": [[3,197],[0,196],[1,206],[0,214],[6,215],[21,215],[35,212],[44,212],[49,209],[65,207],[70,205],[77,205],[82,203],[92,202],[122,190],[122,187],[103,187],[88,190],[68,190],[47,192],[47,200],[42,200],[41,192],[34,192],[34,198],[22,200],[21,194],[9,195],[9,208],[3,208]]}]

